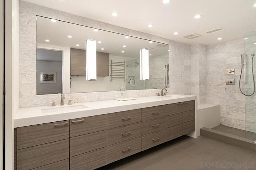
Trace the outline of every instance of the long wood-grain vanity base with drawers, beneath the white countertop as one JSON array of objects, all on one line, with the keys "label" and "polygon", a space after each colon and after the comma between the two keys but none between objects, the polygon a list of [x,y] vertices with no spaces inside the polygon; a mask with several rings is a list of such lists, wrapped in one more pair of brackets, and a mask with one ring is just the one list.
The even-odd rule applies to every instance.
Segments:
[{"label": "long wood-grain vanity base with drawers, beneath the white countertop", "polygon": [[194,100],[18,127],[14,169],[93,170],[191,131]]}]

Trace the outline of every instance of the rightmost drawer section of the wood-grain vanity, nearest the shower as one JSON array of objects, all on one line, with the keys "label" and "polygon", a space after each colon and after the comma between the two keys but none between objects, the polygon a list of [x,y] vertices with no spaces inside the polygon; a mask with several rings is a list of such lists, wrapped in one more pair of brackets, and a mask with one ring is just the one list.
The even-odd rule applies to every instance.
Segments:
[{"label": "rightmost drawer section of the wood-grain vanity, nearest the shower", "polygon": [[195,101],[167,105],[167,140],[195,131]]}]

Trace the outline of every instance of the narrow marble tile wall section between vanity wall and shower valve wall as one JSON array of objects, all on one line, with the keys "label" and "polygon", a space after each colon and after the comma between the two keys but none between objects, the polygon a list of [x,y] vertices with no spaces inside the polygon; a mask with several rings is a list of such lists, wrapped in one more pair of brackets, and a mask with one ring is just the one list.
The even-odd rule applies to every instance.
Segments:
[{"label": "narrow marble tile wall section between vanity wall and shower valve wall", "polygon": [[191,45],[191,94],[198,104],[206,103],[206,45]]}]

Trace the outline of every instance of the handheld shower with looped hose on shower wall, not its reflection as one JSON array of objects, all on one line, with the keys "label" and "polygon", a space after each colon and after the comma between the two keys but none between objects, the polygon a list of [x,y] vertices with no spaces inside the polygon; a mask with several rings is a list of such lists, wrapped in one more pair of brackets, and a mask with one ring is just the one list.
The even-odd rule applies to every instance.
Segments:
[{"label": "handheld shower with looped hose on shower wall, not its reflection", "polygon": [[254,57],[254,54],[251,54],[251,57],[252,57],[252,79],[253,79],[254,90],[253,90],[252,94],[245,94],[244,92],[242,92],[241,87],[240,87],[243,67],[244,67],[244,84],[246,84],[246,56],[247,55],[244,55],[244,57],[243,57],[243,55],[241,55],[241,65],[242,65],[242,67],[241,67],[241,73],[240,73],[240,78],[239,78],[239,89],[240,89],[240,92],[244,96],[252,96],[255,92],[255,80],[254,80],[254,72],[253,72],[253,57]]}]

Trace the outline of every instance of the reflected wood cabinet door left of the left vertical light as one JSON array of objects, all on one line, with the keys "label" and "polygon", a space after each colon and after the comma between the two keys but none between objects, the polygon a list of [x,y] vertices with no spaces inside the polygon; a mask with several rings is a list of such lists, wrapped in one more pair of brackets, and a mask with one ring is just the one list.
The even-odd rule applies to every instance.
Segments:
[{"label": "reflected wood cabinet door left of the left vertical light", "polygon": [[85,50],[70,49],[70,75],[85,76]]}]

